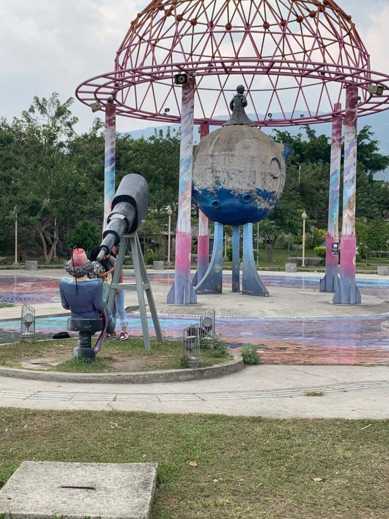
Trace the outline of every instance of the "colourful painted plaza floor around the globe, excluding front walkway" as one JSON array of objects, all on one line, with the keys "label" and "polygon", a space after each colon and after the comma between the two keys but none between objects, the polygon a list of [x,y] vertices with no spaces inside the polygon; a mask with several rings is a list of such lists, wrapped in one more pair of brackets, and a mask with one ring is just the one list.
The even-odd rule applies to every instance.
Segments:
[{"label": "colourful painted plaza floor around the globe, excluding front walkway", "polygon": [[[39,338],[66,330],[68,312],[59,302],[58,280],[62,270],[2,271],[0,301],[18,305],[0,310],[0,343],[18,338],[21,304],[36,309]],[[132,271],[126,280],[133,281]],[[224,276],[223,295],[199,296],[199,304],[166,305],[173,271],[152,272],[150,280],[163,334],[180,339],[185,326],[198,320],[205,308],[216,310],[216,331],[231,348],[258,346],[266,364],[389,364],[389,333],[381,323],[389,319],[389,279],[358,277],[363,304],[332,305],[332,294],[318,292],[317,274],[262,273],[270,297],[243,296],[231,292],[231,274]],[[126,294],[126,304],[136,308],[135,293]],[[142,336],[140,316],[129,313],[129,333]],[[151,335],[154,335],[151,319]]]}]

